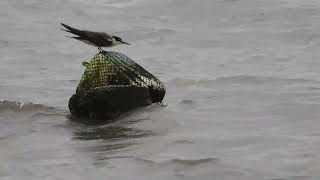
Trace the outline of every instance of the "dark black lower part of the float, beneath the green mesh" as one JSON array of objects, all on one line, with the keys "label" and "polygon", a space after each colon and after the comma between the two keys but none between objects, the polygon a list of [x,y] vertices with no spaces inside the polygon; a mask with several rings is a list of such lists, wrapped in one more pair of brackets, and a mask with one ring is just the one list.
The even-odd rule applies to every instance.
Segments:
[{"label": "dark black lower part of the float, beneath the green mesh", "polygon": [[130,109],[151,104],[147,87],[110,86],[74,94],[69,100],[71,114],[90,119],[110,119]]}]

